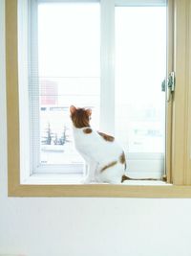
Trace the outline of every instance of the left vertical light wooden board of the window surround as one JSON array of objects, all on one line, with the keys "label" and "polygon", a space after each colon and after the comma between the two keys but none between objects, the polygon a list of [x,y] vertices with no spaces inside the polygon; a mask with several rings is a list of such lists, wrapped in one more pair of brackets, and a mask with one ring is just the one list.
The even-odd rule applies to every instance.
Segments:
[{"label": "left vertical light wooden board of the window surround", "polygon": [[19,155],[19,109],[18,109],[18,63],[17,63],[17,0],[5,1],[6,12],[6,88],[8,126],[8,190],[18,188]]}]

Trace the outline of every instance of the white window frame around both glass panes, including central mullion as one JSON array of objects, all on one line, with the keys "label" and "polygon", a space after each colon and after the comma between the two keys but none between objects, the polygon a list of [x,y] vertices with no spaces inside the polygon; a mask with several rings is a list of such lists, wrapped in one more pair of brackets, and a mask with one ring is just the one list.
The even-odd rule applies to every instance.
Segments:
[{"label": "white window frame around both glass panes, including central mullion", "polygon": [[[20,3],[19,3],[20,2]],[[165,0],[73,0],[72,3],[100,3],[100,16],[103,17],[101,19],[100,24],[100,33],[101,33],[101,81],[100,81],[100,130],[104,130],[110,134],[115,134],[115,12],[116,7],[132,7],[132,6],[166,6]],[[143,4],[141,4],[143,2]],[[31,0],[31,1],[18,1],[18,58],[19,60],[19,101],[20,101],[20,135],[22,138],[24,137],[24,143],[21,141],[21,154],[20,154],[20,161],[21,163],[25,163],[23,167],[21,167],[22,177],[21,180],[24,180],[22,183],[31,183],[27,175],[29,174],[30,179],[32,175],[36,176],[39,175],[46,175],[46,174],[78,174],[79,171],[83,169],[83,164],[78,165],[70,165],[70,164],[41,164],[39,151],[40,151],[40,128],[39,128],[39,102],[36,98],[36,95],[39,91],[39,84],[38,82],[38,50],[36,47],[36,42],[38,41],[37,35],[37,8],[38,4],[44,3],[71,3],[69,0]],[[28,18],[30,16],[30,19]],[[29,22],[28,22],[29,20]],[[30,22],[31,21],[31,22]],[[30,24],[30,26],[28,25]],[[21,28],[21,32],[20,32]],[[28,30],[30,38],[28,38]],[[24,31],[24,33],[23,33]],[[24,38],[23,38],[24,37]],[[27,56],[28,52],[28,44],[30,46],[30,53]],[[26,52],[26,53],[25,53]],[[29,58],[29,60],[28,60]],[[24,61],[23,61],[24,60]],[[30,71],[27,70],[28,61],[30,62]],[[23,64],[23,62],[25,62]],[[34,63],[34,64],[33,64]],[[23,72],[25,70],[25,72]],[[28,75],[30,74],[30,76]],[[30,81],[28,82],[28,77],[30,77]],[[25,82],[23,82],[23,79]],[[29,84],[28,84],[29,83]],[[29,89],[28,89],[29,87]],[[24,88],[24,93],[23,93]],[[34,88],[34,90],[32,89]],[[28,90],[30,91],[30,103],[26,103],[26,99],[28,98]],[[37,92],[36,92],[37,91]],[[105,104],[105,98],[110,99]],[[32,100],[34,99],[34,101]],[[23,105],[23,106],[22,106]],[[30,113],[26,111],[26,105],[30,108]],[[24,113],[22,113],[24,112]],[[31,117],[29,116],[31,115]],[[22,120],[28,116],[28,120],[32,118],[31,124],[27,124]],[[105,122],[105,116],[107,116],[107,122]],[[33,118],[34,117],[34,118]],[[29,121],[30,122],[30,121]],[[22,150],[23,149],[23,150]],[[160,178],[164,175],[165,172],[165,153],[161,152],[125,152],[127,153],[127,159],[129,162],[129,166],[136,165],[136,172],[132,172],[131,168],[128,171],[129,175],[131,176],[151,176]],[[32,159],[30,161],[30,159]],[[138,166],[137,162],[141,161],[141,165]],[[31,163],[29,166],[29,162]],[[148,171],[149,166],[149,171]],[[152,170],[153,168],[153,170]],[[162,170],[163,169],[163,170]],[[67,176],[67,175],[66,175]],[[42,178],[41,178],[42,179]],[[67,182],[67,180],[66,180]]]}]

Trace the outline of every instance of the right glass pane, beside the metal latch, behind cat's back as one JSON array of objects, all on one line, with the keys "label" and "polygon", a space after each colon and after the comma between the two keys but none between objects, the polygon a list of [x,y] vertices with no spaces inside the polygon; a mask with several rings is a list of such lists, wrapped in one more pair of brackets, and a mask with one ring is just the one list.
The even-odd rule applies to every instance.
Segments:
[{"label": "right glass pane, beside the metal latch, behind cat's back", "polygon": [[164,153],[166,7],[116,8],[116,136],[129,153]]}]

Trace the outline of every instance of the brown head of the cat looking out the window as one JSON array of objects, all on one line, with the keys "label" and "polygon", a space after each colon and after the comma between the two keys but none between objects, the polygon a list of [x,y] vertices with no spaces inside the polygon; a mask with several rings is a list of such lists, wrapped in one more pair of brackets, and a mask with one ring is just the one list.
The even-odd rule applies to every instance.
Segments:
[{"label": "brown head of the cat looking out the window", "polygon": [[74,105],[70,106],[71,119],[75,128],[90,127],[92,110],[90,108],[80,108]]}]

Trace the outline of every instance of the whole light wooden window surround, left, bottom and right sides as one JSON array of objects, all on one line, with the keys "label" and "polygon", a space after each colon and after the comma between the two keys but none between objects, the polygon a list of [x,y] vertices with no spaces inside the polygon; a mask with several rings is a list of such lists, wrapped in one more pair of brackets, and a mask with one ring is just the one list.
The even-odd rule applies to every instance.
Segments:
[{"label": "whole light wooden window surround, left, bottom and right sides", "polygon": [[[107,1],[111,0],[106,0],[105,3]],[[22,185],[20,184],[17,0],[6,1],[9,196],[191,198],[191,101],[189,101],[191,99],[191,72],[189,69],[191,59],[189,50],[191,49],[189,31],[191,17],[189,12],[191,12],[191,4],[188,0],[181,2],[169,0],[168,5],[172,8],[172,13],[169,15],[169,25],[172,26],[169,34],[172,37],[169,37],[169,44],[171,45],[170,49],[173,49],[168,68],[169,71],[176,72],[176,91],[167,107],[167,166],[168,182],[171,185]],[[103,50],[104,48],[102,48]],[[110,56],[109,64],[114,64],[113,55]],[[107,69],[108,66],[105,64],[102,68]],[[108,75],[102,79],[110,80],[111,78]]]}]

